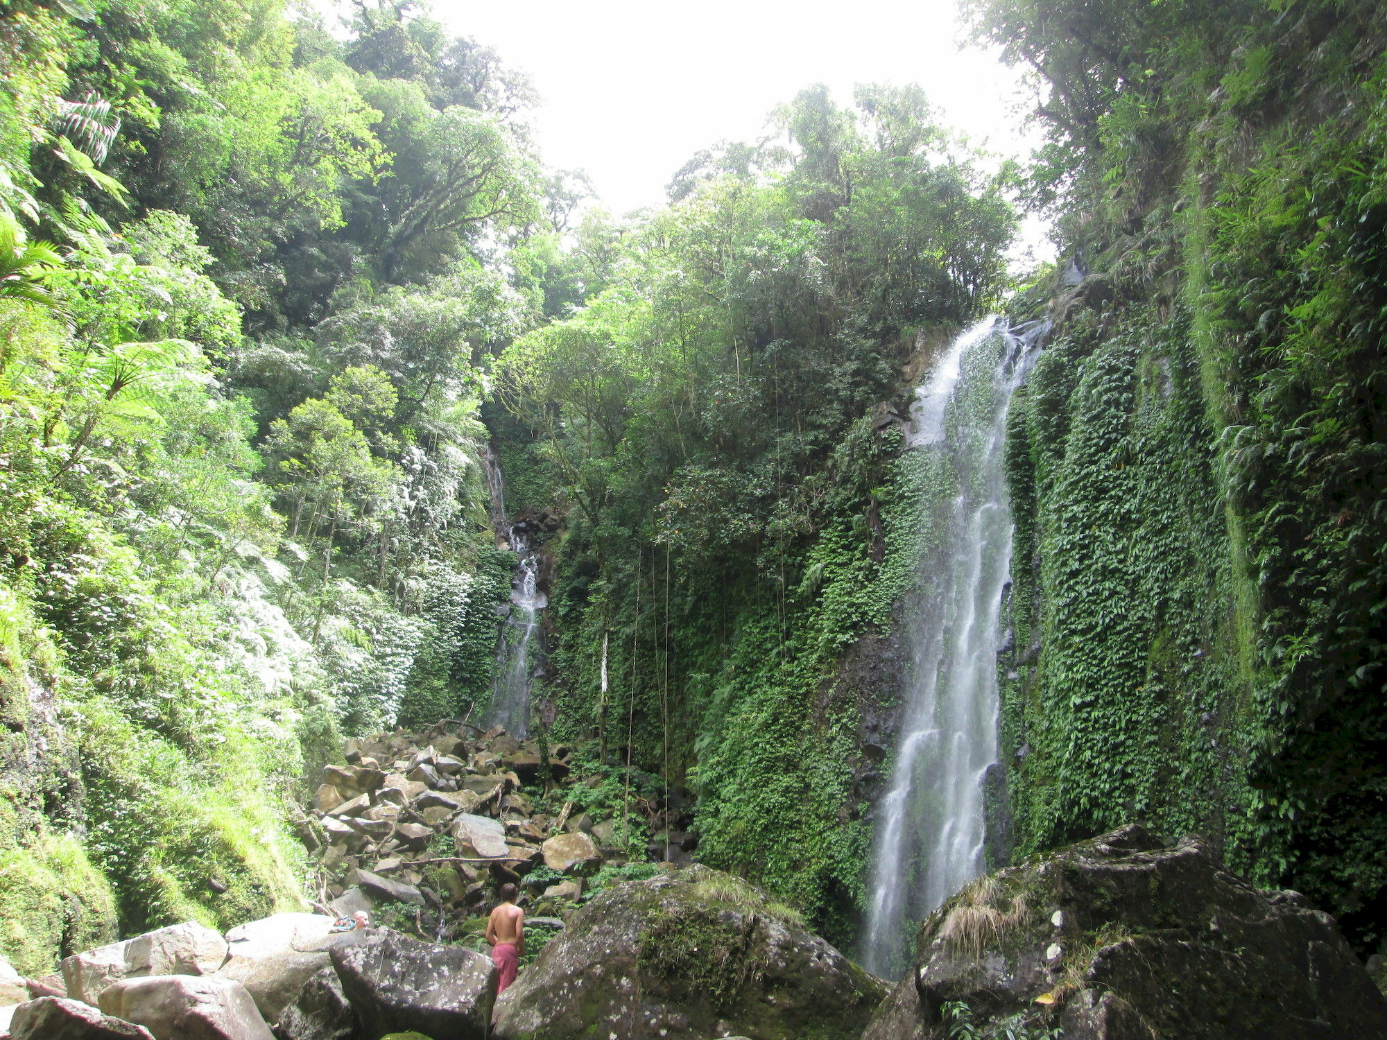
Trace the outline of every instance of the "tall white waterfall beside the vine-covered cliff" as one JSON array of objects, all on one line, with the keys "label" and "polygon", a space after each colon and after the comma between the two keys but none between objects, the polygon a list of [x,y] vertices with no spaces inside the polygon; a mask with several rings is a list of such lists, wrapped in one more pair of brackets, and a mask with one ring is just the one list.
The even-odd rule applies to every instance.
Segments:
[{"label": "tall white waterfall beside the vine-covered cliff", "polygon": [[877,838],[863,964],[910,962],[914,925],[982,872],[982,779],[997,760],[997,628],[1011,567],[1007,404],[1043,334],[989,318],[915,391],[906,444],[924,488],[910,679]]}]

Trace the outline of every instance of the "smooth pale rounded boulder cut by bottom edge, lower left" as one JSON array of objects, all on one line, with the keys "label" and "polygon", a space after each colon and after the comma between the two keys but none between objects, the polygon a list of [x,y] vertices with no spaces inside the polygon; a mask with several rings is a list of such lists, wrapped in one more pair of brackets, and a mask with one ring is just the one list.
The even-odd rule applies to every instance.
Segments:
[{"label": "smooth pale rounded boulder cut by bottom edge, lower left", "polygon": [[148,1029],[155,1040],[273,1040],[251,994],[230,979],[161,975],[125,979],[101,993],[101,1011]]}]

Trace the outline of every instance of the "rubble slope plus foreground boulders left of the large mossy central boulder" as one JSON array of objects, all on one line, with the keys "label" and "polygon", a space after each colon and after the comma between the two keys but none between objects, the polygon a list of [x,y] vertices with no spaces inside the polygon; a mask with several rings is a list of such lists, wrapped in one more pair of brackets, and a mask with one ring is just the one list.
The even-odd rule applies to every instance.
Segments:
[{"label": "rubble slope plus foreground boulders left of the large mossy central boulder", "polygon": [[[0,958],[0,1040],[485,1037],[495,969],[459,940],[477,937],[499,883],[522,887],[530,935],[548,939],[602,867],[634,851],[673,869],[694,849],[663,800],[632,810],[655,840],[624,840],[621,820],[581,808],[594,781],[566,747],[501,728],[377,734],[347,740],[344,760],[323,768],[298,821],[318,857],[318,912],[225,935],[189,921],[75,954],[39,980]],[[370,928],[334,930],[356,911]]]}]

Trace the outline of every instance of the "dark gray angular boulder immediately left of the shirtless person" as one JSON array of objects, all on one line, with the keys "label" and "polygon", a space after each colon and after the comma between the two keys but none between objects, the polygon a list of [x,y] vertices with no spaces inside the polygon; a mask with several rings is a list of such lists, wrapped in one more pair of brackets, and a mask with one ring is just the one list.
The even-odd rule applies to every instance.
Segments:
[{"label": "dark gray angular boulder immediately left of the shirtless person", "polygon": [[334,946],[331,958],[363,1036],[417,1030],[449,1040],[487,1040],[497,994],[490,957],[372,929],[356,942]]}]

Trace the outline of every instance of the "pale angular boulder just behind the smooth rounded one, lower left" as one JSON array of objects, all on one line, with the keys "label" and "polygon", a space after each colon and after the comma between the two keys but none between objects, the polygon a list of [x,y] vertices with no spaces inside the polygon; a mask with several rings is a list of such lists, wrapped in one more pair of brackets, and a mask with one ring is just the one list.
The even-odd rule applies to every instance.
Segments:
[{"label": "pale angular boulder just behind the smooth rounded one, lower left", "polygon": [[96,1004],[121,979],[147,975],[211,975],[226,960],[226,940],[196,921],[169,925],[62,960],[68,996]]}]

